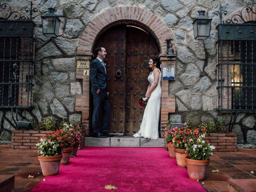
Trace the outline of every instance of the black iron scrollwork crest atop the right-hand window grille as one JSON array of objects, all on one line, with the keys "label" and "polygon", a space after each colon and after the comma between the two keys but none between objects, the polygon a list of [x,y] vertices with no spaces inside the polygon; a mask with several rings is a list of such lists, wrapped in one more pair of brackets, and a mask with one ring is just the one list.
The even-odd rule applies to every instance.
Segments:
[{"label": "black iron scrollwork crest atop the right-hand window grille", "polygon": [[226,23],[238,23],[238,20],[242,20],[244,23],[256,23],[256,19],[254,21],[246,21],[244,19],[243,14],[247,14],[247,13],[252,13],[252,15],[256,15],[256,12],[254,12],[254,7],[256,8],[256,3],[252,4],[251,7],[245,6],[244,8],[242,8],[240,15],[239,14],[234,14],[231,19],[226,20]]}]

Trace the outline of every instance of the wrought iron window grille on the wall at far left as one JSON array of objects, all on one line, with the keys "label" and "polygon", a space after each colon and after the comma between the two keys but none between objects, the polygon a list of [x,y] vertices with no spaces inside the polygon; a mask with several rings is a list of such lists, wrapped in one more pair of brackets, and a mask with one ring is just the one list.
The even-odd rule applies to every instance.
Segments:
[{"label": "wrought iron window grille on the wall at far left", "polygon": [[[0,108],[33,108],[32,76],[34,74],[34,26],[32,14],[36,8],[26,7],[25,14],[0,3]],[[12,118],[13,113],[12,113]]]}]

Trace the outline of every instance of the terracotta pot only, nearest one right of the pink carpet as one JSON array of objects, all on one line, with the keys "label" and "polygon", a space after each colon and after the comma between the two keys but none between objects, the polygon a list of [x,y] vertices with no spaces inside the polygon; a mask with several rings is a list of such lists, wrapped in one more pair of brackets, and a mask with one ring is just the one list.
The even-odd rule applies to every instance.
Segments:
[{"label": "terracotta pot only, nearest one right of the pink carpet", "polygon": [[187,169],[188,169],[188,176],[192,180],[199,180],[202,181],[205,178],[206,169],[210,162],[209,160],[194,160],[185,158]]}]

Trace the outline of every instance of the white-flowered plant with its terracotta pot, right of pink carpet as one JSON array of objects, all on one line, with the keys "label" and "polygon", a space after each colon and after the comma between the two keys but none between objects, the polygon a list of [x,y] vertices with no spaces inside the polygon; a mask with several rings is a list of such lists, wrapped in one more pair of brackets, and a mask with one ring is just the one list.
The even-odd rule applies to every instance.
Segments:
[{"label": "white-flowered plant with its terracotta pot, right of pink carpet", "polygon": [[206,128],[203,132],[194,131],[192,137],[185,144],[188,156],[185,158],[188,176],[192,180],[204,180],[206,168],[210,162],[212,150],[215,149],[209,141],[205,141]]}]

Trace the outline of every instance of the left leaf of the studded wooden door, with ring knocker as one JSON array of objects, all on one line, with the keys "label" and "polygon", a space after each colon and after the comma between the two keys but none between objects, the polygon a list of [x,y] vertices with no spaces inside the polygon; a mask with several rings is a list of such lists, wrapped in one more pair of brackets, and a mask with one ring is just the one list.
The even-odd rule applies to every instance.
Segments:
[{"label": "left leaf of the studded wooden door, with ring knocker", "polygon": [[[124,134],[125,118],[125,47],[126,31],[123,26],[117,26],[104,32],[97,40],[95,47],[106,48],[107,89],[110,98],[111,116],[110,133]],[[116,70],[121,70],[122,76],[116,77]]]}]

